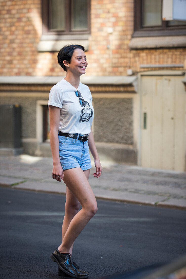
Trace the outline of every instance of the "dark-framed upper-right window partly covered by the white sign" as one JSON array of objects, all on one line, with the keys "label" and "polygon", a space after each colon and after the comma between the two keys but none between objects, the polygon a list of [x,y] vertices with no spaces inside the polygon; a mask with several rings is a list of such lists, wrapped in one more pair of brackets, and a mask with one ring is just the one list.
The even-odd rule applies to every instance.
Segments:
[{"label": "dark-framed upper-right window partly covered by the white sign", "polygon": [[135,0],[133,37],[186,35],[186,21],[162,21],[162,0]]}]

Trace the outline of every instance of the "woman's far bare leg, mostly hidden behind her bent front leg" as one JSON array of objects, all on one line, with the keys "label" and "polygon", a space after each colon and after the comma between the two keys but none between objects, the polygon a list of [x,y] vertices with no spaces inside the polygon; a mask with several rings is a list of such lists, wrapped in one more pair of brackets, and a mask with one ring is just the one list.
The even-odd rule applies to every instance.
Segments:
[{"label": "woman's far bare leg, mostly hidden behind her bent front leg", "polygon": [[[90,169],[83,170],[83,172],[86,175],[86,178],[88,180],[89,174],[90,174]],[[71,220],[78,213],[79,208],[80,208],[80,202],[78,201],[78,199],[76,199],[76,197],[69,190],[69,188],[66,187],[66,203],[65,203],[65,216],[64,216],[63,224],[62,224],[62,240],[64,238],[64,235],[66,234],[66,231],[69,227]],[[74,242],[73,242],[73,244],[74,244]],[[69,253],[71,253],[71,256],[72,256],[73,244],[69,251]],[[60,251],[60,249],[59,249],[59,251]]]}]

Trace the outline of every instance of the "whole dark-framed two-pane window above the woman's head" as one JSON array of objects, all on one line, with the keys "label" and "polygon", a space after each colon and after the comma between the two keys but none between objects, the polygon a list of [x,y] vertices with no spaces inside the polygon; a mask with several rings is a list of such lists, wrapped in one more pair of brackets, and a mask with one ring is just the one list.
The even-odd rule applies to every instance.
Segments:
[{"label": "whole dark-framed two-pane window above the woman's head", "polygon": [[43,34],[90,33],[90,0],[42,0]]}]

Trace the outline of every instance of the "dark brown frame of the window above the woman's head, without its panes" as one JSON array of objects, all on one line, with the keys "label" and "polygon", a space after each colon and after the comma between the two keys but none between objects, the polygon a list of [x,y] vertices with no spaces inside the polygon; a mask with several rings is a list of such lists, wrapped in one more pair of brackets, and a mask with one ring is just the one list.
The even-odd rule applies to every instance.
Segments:
[{"label": "dark brown frame of the window above the woman's head, without its panes", "polygon": [[88,11],[87,11],[87,22],[88,28],[85,30],[71,30],[71,2],[65,0],[65,14],[68,17],[66,21],[66,29],[62,30],[50,30],[49,29],[49,0],[42,0],[42,34],[43,35],[73,35],[73,34],[90,34],[90,0],[87,0]]}]

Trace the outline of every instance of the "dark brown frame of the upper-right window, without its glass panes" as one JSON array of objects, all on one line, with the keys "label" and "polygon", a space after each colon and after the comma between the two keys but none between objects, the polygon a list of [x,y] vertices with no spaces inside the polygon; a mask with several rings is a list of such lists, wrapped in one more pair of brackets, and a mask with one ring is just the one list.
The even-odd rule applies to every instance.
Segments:
[{"label": "dark brown frame of the upper-right window, without its glass panes", "polygon": [[[161,1],[161,11],[162,11]],[[146,36],[173,36],[186,35],[186,26],[167,26],[167,22],[162,20],[161,26],[142,27],[143,3],[142,0],[134,0],[134,33],[132,37]]]}]

